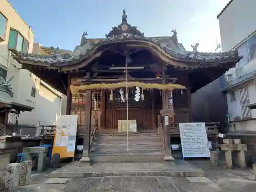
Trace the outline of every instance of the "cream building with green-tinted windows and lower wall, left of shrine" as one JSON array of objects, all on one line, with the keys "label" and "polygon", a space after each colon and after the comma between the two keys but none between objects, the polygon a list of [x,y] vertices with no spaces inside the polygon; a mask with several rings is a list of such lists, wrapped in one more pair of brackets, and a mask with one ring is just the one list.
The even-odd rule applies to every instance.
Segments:
[{"label": "cream building with green-tinted windows and lower wall, left of shrine", "polygon": [[[36,127],[53,124],[61,114],[63,96],[13,59],[18,52],[40,53],[34,44],[31,27],[18,15],[7,0],[0,6],[0,128],[15,123]],[[65,96],[64,96],[65,97]],[[4,111],[4,112],[3,112]],[[63,110],[64,111],[64,110]],[[8,116],[9,114],[9,116]],[[8,116],[8,118],[7,118]]]}]

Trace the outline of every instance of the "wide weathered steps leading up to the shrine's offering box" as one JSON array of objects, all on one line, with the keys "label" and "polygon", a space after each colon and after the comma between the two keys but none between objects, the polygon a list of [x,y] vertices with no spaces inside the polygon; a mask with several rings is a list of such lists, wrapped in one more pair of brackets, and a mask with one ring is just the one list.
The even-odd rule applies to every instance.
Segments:
[{"label": "wide weathered steps leading up to the shrine's offering box", "polygon": [[90,154],[94,162],[162,161],[163,155],[160,135],[142,133],[129,135],[129,151],[126,135],[99,134]]}]

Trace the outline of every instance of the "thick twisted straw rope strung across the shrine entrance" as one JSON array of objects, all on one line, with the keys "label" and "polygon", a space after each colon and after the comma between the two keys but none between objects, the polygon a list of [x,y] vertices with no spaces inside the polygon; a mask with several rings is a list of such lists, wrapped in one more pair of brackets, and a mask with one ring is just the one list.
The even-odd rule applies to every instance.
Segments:
[{"label": "thick twisted straw rope strung across the shrine entrance", "polygon": [[[76,94],[80,90],[111,90],[117,88],[126,87],[126,82],[117,82],[117,83],[96,83],[96,84],[84,84],[82,86],[70,86],[70,91],[72,94]],[[144,83],[137,81],[127,82],[127,87],[140,87],[142,89],[158,89],[158,90],[176,90],[176,89],[186,89],[184,86],[180,84],[158,84],[158,83]]]}]

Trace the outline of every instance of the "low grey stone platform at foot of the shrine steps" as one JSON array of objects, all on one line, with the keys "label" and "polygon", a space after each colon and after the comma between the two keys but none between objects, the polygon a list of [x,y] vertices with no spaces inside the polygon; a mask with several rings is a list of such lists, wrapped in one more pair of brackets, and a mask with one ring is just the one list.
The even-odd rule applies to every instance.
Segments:
[{"label": "low grey stone platform at foot of the shrine steps", "polygon": [[204,171],[184,160],[173,162],[123,162],[93,163],[82,166],[73,162],[51,172],[51,178],[88,178],[104,176],[165,176],[165,177],[204,177]]}]

